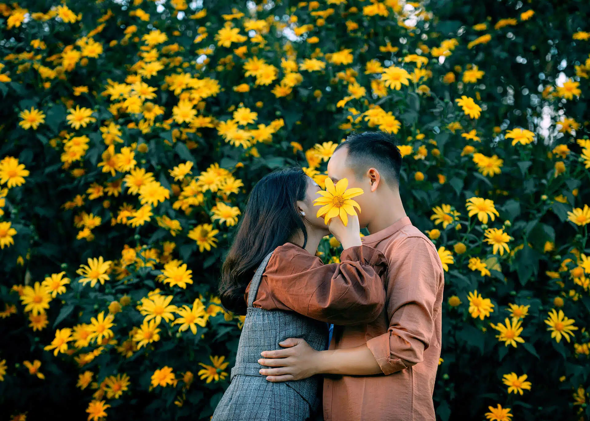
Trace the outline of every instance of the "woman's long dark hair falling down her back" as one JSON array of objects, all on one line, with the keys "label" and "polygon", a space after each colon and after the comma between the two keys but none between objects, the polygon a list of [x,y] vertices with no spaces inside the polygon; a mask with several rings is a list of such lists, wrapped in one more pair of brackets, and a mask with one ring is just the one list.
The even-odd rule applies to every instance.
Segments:
[{"label": "woman's long dark hair falling down her back", "polygon": [[246,313],[246,287],[268,253],[298,232],[305,247],[307,230],[296,202],[306,199],[308,179],[300,168],[288,168],[265,175],[252,189],[221,269],[219,297],[225,309]]}]

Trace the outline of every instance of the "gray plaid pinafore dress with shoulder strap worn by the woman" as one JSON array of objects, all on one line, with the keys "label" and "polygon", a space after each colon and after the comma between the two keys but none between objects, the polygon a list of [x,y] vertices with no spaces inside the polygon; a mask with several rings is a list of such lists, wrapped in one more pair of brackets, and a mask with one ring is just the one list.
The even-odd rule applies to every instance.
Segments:
[{"label": "gray plaid pinafore dress with shoulder strap worn by the woman", "polygon": [[264,367],[257,362],[260,353],[281,349],[279,342],[300,337],[321,351],[326,349],[328,337],[326,323],[291,311],[253,307],[272,255],[273,252],[264,258],[250,283],[248,309],[235,367],[231,369],[230,387],[217,405],[212,421],[304,421],[319,409],[317,387],[322,377],[271,383],[258,373]]}]

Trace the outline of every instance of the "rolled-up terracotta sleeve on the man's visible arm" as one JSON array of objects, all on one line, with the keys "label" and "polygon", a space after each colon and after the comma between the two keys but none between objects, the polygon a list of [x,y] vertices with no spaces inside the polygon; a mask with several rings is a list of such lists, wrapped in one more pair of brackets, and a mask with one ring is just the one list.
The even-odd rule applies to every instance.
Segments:
[{"label": "rolled-up terracotta sleeve on the man's visible arm", "polygon": [[389,329],[367,346],[383,374],[391,374],[422,362],[434,332],[442,267],[437,251],[422,237],[408,237],[385,254]]}]

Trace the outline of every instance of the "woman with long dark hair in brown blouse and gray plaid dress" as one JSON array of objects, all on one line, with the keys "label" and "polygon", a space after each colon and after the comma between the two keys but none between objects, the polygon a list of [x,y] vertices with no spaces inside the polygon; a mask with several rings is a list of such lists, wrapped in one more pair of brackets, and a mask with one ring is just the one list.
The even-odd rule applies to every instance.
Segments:
[{"label": "woman with long dark hair in brown blouse and gray plaid dress", "polygon": [[[367,323],[385,305],[385,257],[362,245],[358,217],[349,217],[346,227],[340,218],[326,226],[316,217],[319,190],[302,170],[290,168],[266,175],[250,193],[219,285],[224,307],[246,318],[214,421],[309,419],[318,409],[319,377],[267,382],[259,373],[260,353],[288,337],[324,350],[327,323]],[[316,257],[329,232],[344,248],[340,263]]]}]

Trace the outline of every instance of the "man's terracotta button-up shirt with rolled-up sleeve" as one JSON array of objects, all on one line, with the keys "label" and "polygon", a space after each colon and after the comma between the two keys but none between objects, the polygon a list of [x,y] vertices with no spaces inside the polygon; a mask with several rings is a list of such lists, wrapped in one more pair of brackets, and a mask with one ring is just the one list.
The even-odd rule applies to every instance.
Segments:
[{"label": "man's terracotta button-up shirt with rolled-up sleeve", "polygon": [[437,250],[408,217],[363,244],[388,259],[385,309],[371,323],[335,326],[330,349],[366,343],[383,374],[326,376],[324,420],[434,421],[444,287]]}]

